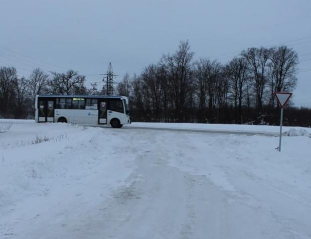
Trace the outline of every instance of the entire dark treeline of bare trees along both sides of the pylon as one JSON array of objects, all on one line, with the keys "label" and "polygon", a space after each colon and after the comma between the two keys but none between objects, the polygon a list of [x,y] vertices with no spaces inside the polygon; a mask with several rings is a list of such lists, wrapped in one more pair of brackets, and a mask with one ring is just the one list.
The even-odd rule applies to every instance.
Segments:
[{"label": "entire dark treeline of bare trees along both sides of the pylon", "polygon": [[[129,97],[134,121],[279,123],[273,92],[293,92],[297,85],[299,59],[292,48],[249,48],[227,64],[193,56],[182,41],[141,74],[124,76],[116,94]],[[37,68],[19,78],[14,67],[0,67],[0,117],[33,118],[37,94],[105,94],[85,81],[73,70],[47,74]],[[285,124],[311,126],[311,110],[290,102]]]}]

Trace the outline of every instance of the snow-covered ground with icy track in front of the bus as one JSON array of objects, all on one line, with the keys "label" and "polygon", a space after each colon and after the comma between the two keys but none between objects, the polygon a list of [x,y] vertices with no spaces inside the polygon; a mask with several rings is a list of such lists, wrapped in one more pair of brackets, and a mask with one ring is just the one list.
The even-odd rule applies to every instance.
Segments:
[{"label": "snow-covered ground with icy track in front of the bus", "polygon": [[0,239],[311,238],[307,133],[278,152],[271,136],[3,122]]}]

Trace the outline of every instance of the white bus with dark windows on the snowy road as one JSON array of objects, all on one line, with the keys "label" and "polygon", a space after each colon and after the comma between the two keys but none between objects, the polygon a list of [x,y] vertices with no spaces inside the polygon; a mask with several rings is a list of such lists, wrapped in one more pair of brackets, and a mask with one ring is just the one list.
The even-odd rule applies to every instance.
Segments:
[{"label": "white bus with dark windows on the snowy road", "polygon": [[131,123],[125,96],[37,95],[35,109],[36,122],[110,124],[114,128]]}]

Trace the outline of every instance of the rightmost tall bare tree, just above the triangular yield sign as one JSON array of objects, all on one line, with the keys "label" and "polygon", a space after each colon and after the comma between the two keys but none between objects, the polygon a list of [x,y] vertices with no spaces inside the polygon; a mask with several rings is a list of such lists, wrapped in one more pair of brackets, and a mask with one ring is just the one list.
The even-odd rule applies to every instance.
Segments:
[{"label": "rightmost tall bare tree, just above the triangular yield sign", "polygon": [[271,49],[269,63],[270,104],[275,106],[273,92],[292,91],[297,85],[298,55],[293,48],[279,46]]}]

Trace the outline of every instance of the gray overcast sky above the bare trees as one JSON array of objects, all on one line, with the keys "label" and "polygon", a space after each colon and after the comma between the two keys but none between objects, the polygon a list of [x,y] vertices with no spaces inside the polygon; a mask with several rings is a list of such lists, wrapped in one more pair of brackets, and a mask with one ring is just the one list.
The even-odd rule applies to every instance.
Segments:
[{"label": "gray overcast sky above the bare trees", "polygon": [[311,0],[0,0],[0,9],[0,66],[20,76],[74,69],[90,86],[108,62],[120,81],[180,40],[195,59],[223,63],[248,47],[287,42],[300,55],[294,102],[311,107]]}]

